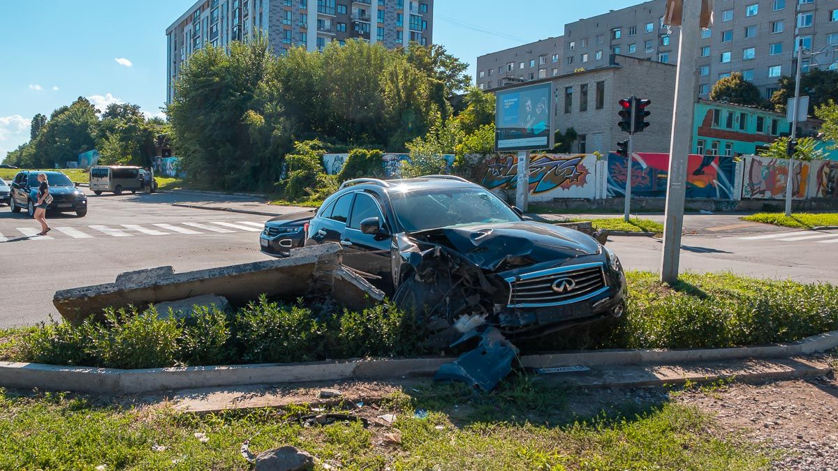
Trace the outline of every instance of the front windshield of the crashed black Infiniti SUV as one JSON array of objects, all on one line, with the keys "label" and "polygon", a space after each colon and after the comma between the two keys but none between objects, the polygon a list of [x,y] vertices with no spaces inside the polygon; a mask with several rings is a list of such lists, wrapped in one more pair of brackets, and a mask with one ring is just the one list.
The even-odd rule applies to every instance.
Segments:
[{"label": "front windshield of the crashed black Infiniti SUV", "polygon": [[391,201],[399,223],[407,232],[521,220],[515,211],[486,189],[394,192]]}]

